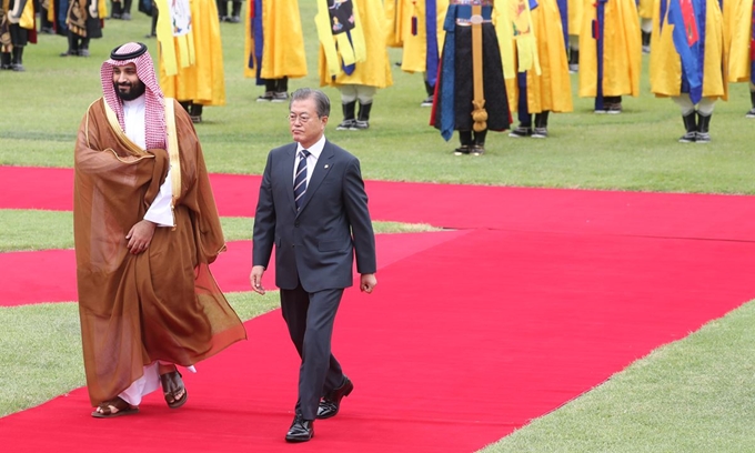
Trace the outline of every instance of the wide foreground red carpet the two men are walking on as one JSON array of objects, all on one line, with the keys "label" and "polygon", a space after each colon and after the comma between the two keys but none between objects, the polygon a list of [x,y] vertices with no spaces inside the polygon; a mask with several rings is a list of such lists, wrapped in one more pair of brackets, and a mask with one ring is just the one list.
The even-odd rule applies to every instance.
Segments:
[{"label": "wide foreground red carpet the two men are walking on", "polygon": [[346,293],[334,351],[356,389],[309,444],[283,442],[298,364],[278,312],[188,376],[184,409],[153,395],[140,415],[94,420],[77,390],[0,420],[0,437],[8,451],[471,452],[752,298],[753,265],[755,244],[475,231],[382,269],[370,296]]}]

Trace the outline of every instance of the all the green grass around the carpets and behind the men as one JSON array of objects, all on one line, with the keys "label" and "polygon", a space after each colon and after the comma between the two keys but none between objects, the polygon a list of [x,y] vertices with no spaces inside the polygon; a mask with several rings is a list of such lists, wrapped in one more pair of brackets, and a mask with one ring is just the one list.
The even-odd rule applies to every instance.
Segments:
[{"label": "all the green grass around the carpets and behind the men", "polygon": [[[301,2],[301,8],[310,76],[292,80],[292,90],[319,85],[314,2]],[[259,174],[266,152],[290,141],[286,105],[255,102],[262,88],[242,76],[243,28],[222,23],[221,29],[228,105],[205,109],[198,133],[210,171]],[[59,58],[66,40],[41,36],[39,44],[26,50],[27,72],[0,71],[0,164],[71,167],[79,122],[101,95],[101,62],[112,48],[132,40],[148,43],[154,56],[154,40],[143,38],[148,31],[149,18],[140,13],[130,22],[108,21],[88,59]],[[396,49],[390,56],[392,62],[401,60]],[[729,101],[716,104],[712,143],[680,144],[677,108],[652,97],[646,57],[644,63],[642,95],[625,98],[625,113],[595,115],[591,99],[574,98],[573,113],[552,115],[547,140],[491,133],[480,158],[452,154],[456,138],[444,142],[427,125],[430,109],[419,107],[425,97],[422,76],[395,67],[394,85],[378,93],[368,131],[335,131],[339,95],[326,88],[334,104],[326,134],[361,159],[366,179],[754,194],[755,121],[744,118],[747,87],[731,85]],[[33,181],[29,185],[33,190]],[[223,222],[229,239],[248,238],[249,219]],[[66,213],[0,211],[0,233],[1,251],[71,246]],[[276,306],[274,294],[229,299],[243,319]],[[485,452],[755,451],[754,322],[755,306],[746,304]],[[83,385],[74,303],[0,309],[0,415]]]}]

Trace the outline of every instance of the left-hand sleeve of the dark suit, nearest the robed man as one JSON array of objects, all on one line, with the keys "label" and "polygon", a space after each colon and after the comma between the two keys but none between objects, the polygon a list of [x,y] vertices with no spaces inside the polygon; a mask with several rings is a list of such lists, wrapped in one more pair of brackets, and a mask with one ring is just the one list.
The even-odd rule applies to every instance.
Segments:
[{"label": "left-hand sleeve of the dark suit, nearest the robed man", "polygon": [[268,163],[262,174],[252,235],[252,265],[263,265],[265,269],[270,263],[270,255],[275,241],[275,203],[273,202],[272,181],[270,180],[271,168],[272,153],[268,154]]}]

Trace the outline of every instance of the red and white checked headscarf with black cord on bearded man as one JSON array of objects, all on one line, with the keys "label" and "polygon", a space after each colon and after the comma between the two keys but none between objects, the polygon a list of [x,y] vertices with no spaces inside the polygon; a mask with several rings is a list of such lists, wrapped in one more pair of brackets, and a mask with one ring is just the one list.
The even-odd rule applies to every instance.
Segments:
[{"label": "red and white checked headscarf with black cord on bearded man", "polygon": [[164,95],[158,83],[152,58],[147,51],[147,46],[141,42],[129,42],[113,49],[110,60],[102,63],[100,74],[102,77],[102,92],[104,101],[118,115],[121,130],[125,131],[123,122],[123,101],[113,88],[113,68],[129,63],[137,66],[137,76],[144,83],[144,138],[147,149],[167,149],[167,125]]}]

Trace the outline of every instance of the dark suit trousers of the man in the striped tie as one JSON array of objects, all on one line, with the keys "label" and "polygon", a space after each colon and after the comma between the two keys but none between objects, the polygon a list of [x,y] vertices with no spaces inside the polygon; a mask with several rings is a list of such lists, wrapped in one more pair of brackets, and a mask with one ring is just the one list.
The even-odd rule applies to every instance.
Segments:
[{"label": "dark suit trousers of the man in the striped tie", "polygon": [[301,282],[294,290],[281,290],[281,312],[302,359],[296,412],[304,420],[314,420],[320,399],[343,385],[345,380],[341,364],[331,353],[333,324],[342,295],[342,288],[310,293]]}]

